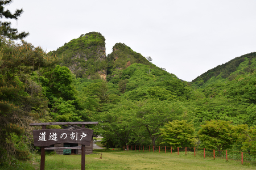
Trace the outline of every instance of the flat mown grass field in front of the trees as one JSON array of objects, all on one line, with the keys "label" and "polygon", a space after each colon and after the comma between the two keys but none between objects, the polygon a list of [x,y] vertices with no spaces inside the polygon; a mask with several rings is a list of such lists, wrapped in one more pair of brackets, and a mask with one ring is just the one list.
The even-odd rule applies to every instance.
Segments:
[{"label": "flat mown grass field in front of the trees", "polygon": [[[100,159],[102,152],[102,159]],[[40,157],[36,158],[36,169],[39,169]],[[189,152],[138,152],[118,150],[96,150],[85,156],[85,169],[255,169],[248,163],[225,159],[215,160],[194,156]],[[46,169],[81,169],[81,155],[48,155]]]}]

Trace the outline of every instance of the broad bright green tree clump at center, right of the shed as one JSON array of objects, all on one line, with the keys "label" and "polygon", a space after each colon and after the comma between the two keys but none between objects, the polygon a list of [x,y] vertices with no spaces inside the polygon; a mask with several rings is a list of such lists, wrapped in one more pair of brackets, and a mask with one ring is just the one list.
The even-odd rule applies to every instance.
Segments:
[{"label": "broad bright green tree clump at center, right of the shed", "polygon": [[[155,146],[160,128],[168,121],[177,120],[183,114],[179,102],[122,100],[112,105],[108,112],[98,116],[101,134],[109,146],[129,144]],[[160,143],[160,142],[159,142]]]}]

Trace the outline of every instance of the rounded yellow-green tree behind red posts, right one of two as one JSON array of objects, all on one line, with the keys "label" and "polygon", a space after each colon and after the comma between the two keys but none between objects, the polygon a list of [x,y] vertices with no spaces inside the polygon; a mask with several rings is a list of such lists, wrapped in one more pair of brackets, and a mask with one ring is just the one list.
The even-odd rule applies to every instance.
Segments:
[{"label": "rounded yellow-green tree behind red posts, right one of two", "polygon": [[236,127],[232,122],[221,120],[205,121],[198,134],[203,146],[217,150],[219,154],[231,148],[237,138]]}]

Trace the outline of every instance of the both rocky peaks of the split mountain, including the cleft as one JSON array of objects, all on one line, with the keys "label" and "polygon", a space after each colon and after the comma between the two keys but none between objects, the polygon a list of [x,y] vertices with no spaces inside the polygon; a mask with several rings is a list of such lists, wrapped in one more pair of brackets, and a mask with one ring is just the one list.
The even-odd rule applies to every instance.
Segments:
[{"label": "both rocky peaks of the split mountain, including the cleft", "polygon": [[140,53],[122,43],[115,44],[108,57],[105,50],[104,36],[89,32],[50,53],[63,58],[60,65],[67,66],[79,78],[106,80],[107,74],[112,77],[114,70],[126,69],[133,63],[152,65]]}]

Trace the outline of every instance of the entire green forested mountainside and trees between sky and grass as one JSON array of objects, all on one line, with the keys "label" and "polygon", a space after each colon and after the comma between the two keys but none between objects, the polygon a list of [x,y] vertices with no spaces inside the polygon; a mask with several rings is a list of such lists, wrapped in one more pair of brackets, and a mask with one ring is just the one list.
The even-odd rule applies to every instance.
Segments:
[{"label": "entire green forested mountainside and trees between sky and grass", "polygon": [[[88,128],[106,147],[164,143],[256,151],[256,53],[185,82],[123,43],[106,56],[98,32],[48,54],[24,41],[0,42],[0,166],[29,159],[38,149],[32,121],[98,121]],[[209,127],[224,129],[205,132]],[[228,145],[209,144],[207,135],[226,129]]]}]

